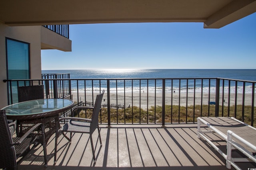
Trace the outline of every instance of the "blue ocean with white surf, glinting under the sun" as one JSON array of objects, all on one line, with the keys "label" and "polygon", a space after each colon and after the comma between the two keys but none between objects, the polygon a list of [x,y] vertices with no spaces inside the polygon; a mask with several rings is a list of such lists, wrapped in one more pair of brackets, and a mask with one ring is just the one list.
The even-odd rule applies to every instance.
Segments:
[{"label": "blue ocean with white surf, glinting under the sun", "polygon": [[[104,78],[228,78],[236,80],[248,80],[256,81],[256,69],[106,69],[106,70],[42,70],[42,74],[61,74],[70,73],[71,79],[104,79]],[[209,91],[215,92],[216,82],[215,80],[204,80],[203,81],[203,92]],[[201,92],[202,90],[201,80],[196,80],[196,92]],[[222,84],[222,83],[221,83]],[[86,87],[84,86],[84,81],[78,82],[78,90],[99,90],[99,85],[101,88],[106,88],[106,80],[86,81]],[[116,87],[117,85],[117,87]],[[156,86],[156,88],[155,88]],[[187,91],[186,80],[166,80],[166,92],[176,91],[186,92]],[[231,81],[230,92],[235,92],[235,82]],[[77,82],[72,81],[72,90],[77,90]],[[125,89],[123,80],[111,80],[110,81],[110,91],[122,92],[136,92],[139,90],[149,91],[149,92],[162,92],[162,80],[126,80]],[[222,91],[222,87],[220,88]],[[238,93],[242,93],[243,84],[238,82]],[[188,80],[188,92],[194,92],[194,80]],[[228,82],[225,81],[224,92],[228,92]],[[252,93],[252,84],[246,83],[246,93]]]}]

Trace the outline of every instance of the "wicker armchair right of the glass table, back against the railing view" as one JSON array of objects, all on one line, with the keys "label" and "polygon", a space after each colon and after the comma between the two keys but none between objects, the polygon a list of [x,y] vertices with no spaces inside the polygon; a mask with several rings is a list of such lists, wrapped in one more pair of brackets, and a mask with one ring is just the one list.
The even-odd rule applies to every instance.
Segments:
[{"label": "wicker armchair right of the glass table, back against the railing view", "polygon": [[[89,133],[90,134],[93,160],[94,160],[94,163],[96,163],[95,151],[94,151],[94,147],[93,147],[93,143],[92,143],[92,133],[96,129],[98,129],[99,138],[100,138],[100,146],[102,146],[101,137],[100,137],[100,129],[99,129],[99,124],[98,124],[98,117],[99,117],[99,112],[100,112],[100,108],[101,108],[101,102],[102,102],[103,95],[104,95],[104,90],[101,94],[98,94],[96,96],[96,101],[95,101],[94,107],[86,107],[86,106],[75,107],[72,110],[72,117],[62,117],[59,119],[59,121],[62,121],[64,119],[67,119],[69,121],[67,123],[65,123],[65,125],[58,130],[58,134],[56,134],[54,164],[56,163],[58,136],[60,134],[64,135],[64,137],[66,139],[68,139],[68,141],[71,143],[72,133]],[[74,111],[76,111],[77,109],[93,109],[92,119],[74,117]],[[70,138],[68,138],[64,134],[64,132],[70,132]]]}]

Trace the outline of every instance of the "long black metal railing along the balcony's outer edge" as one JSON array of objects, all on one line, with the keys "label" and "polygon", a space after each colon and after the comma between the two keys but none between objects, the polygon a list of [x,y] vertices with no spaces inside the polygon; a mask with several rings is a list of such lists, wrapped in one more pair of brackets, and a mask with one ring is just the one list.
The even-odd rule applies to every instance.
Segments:
[{"label": "long black metal railing along the balcony's outer edge", "polygon": [[[43,74],[42,79],[4,80],[9,104],[18,101],[18,86],[44,85],[45,98],[71,98],[92,106],[105,90],[101,124],[195,123],[200,116],[230,116],[256,126],[255,82],[225,78],[70,79]],[[175,88],[174,88],[175,87]],[[82,113],[81,113],[82,114]],[[89,113],[84,113],[88,116]]]}]

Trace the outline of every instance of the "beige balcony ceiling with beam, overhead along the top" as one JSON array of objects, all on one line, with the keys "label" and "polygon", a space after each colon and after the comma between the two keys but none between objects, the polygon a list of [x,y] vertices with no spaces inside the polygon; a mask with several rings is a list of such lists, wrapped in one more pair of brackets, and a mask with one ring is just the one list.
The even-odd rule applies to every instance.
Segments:
[{"label": "beige balcony ceiling with beam, overhead along the top", "polygon": [[6,25],[203,22],[220,28],[256,12],[256,0],[1,0]]}]

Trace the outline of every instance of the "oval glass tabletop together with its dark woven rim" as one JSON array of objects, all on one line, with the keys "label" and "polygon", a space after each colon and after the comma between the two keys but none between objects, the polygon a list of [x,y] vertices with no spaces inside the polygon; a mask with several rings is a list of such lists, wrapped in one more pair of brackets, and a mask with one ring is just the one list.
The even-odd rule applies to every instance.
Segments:
[{"label": "oval glass tabletop together with its dark woven rim", "polygon": [[74,102],[69,99],[37,99],[12,104],[2,109],[6,110],[6,117],[8,119],[25,121],[27,119],[55,117],[73,105]]}]

